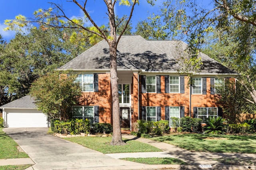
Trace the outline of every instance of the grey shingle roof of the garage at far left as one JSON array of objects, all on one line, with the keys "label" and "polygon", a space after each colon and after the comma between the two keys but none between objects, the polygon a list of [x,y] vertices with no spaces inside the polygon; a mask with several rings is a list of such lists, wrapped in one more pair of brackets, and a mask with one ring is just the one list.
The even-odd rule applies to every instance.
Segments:
[{"label": "grey shingle roof of the garage at far left", "polygon": [[23,98],[19,98],[14,100],[8,104],[0,106],[0,108],[36,108],[35,100],[31,96],[24,96]]}]

